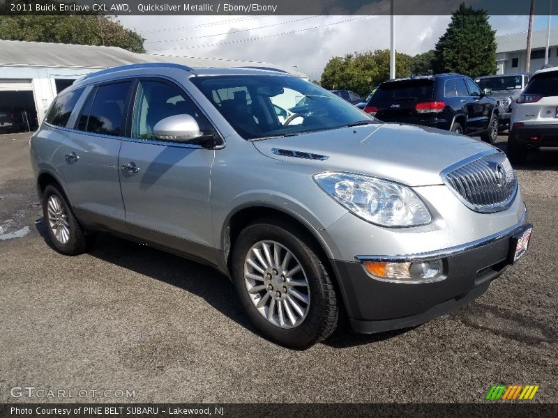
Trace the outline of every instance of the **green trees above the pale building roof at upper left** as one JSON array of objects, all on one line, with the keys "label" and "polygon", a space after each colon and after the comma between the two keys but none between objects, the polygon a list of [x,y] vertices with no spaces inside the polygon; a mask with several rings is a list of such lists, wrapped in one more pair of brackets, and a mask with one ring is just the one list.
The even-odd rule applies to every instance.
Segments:
[{"label": "green trees above the pale building roof at upper left", "polygon": [[[51,1],[50,3],[54,3]],[[103,15],[3,15],[0,39],[121,47],[145,52],[144,38]]]}]

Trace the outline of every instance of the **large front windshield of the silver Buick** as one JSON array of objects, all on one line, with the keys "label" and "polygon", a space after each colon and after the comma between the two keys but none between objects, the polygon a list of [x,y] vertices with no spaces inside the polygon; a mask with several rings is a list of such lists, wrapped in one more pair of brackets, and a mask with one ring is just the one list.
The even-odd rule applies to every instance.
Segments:
[{"label": "large front windshield of the silver Buick", "polygon": [[245,139],[375,123],[352,104],[297,77],[220,75],[191,81]]}]

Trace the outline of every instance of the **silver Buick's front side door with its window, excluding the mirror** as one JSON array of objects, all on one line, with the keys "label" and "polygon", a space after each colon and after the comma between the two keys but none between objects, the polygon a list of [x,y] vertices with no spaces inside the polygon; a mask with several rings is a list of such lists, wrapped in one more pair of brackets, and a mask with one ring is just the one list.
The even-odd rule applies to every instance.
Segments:
[{"label": "silver Buick's front side door with its window, excluding the mirror", "polygon": [[179,86],[141,79],[133,107],[132,138],[122,141],[120,182],[130,232],[156,245],[211,259],[209,193],[215,150],[199,144],[160,141],[156,123],[190,114],[200,130],[211,124]]}]

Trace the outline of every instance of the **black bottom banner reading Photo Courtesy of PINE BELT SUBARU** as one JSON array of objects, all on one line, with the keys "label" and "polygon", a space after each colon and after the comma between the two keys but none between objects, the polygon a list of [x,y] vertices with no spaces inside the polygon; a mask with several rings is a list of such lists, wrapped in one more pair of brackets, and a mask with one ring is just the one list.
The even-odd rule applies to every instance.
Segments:
[{"label": "black bottom banner reading Photo Courtesy of PINE BELT SUBARU", "polygon": [[536,417],[555,418],[558,404],[513,403],[490,401],[478,404],[93,404],[93,403],[4,403],[0,405],[0,418],[5,417],[70,417],[70,418],[359,418],[359,417]]}]

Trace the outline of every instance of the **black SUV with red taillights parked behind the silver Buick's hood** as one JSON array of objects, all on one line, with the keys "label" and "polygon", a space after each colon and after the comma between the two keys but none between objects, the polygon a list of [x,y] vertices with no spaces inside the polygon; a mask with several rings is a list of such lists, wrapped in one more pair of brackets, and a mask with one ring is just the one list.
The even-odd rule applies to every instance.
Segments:
[{"label": "black SUV with red taillights parked behind the silver Buick's hood", "polygon": [[498,107],[490,94],[460,74],[394,79],[379,85],[364,111],[380,121],[438,127],[492,144]]}]

